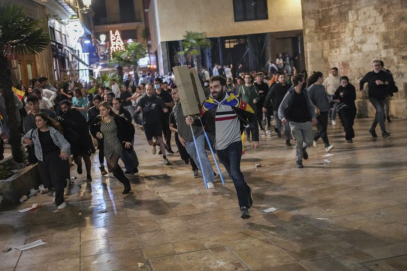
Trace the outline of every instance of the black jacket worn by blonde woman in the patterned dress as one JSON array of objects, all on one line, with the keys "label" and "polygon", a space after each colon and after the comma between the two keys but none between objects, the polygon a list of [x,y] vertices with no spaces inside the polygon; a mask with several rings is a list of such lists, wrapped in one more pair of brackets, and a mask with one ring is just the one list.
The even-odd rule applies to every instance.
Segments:
[{"label": "black jacket worn by blonde woman in the patterned dress", "polygon": [[[129,123],[125,118],[120,117],[118,115],[115,115],[112,118],[116,124],[117,137],[119,138],[120,142],[131,142],[134,138],[134,126],[131,123]],[[91,127],[90,127],[91,134],[95,138],[96,138],[96,133],[100,132],[101,122],[102,122],[101,117],[97,116],[91,124]],[[127,150],[127,152],[131,152],[133,149],[128,148],[126,150]]]}]

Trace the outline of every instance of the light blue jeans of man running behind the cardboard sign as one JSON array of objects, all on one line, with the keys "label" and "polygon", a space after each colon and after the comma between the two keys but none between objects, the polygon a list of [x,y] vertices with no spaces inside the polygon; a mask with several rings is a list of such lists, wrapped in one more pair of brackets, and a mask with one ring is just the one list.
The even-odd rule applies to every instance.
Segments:
[{"label": "light blue jeans of man running behind the cardboard sign", "polygon": [[208,183],[214,182],[214,169],[212,168],[211,161],[208,158],[208,153],[205,149],[205,135],[201,134],[196,138],[196,145],[199,151],[200,161],[202,162],[202,168],[200,168],[198,156],[196,155],[195,145],[193,141],[185,142],[185,148],[188,154],[192,157],[195,161],[195,164],[198,166],[201,172],[205,174]]}]

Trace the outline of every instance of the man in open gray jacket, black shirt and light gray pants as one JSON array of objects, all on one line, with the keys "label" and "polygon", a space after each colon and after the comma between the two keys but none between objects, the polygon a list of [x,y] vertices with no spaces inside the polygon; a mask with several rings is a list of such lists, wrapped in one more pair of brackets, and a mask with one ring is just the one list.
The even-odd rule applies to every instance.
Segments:
[{"label": "man in open gray jacket, black shirt and light gray pants", "polygon": [[316,124],[314,105],[302,85],[304,75],[298,73],[292,78],[293,86],[289,89],[279,107],[279,118],[281,123],[287,121],[290,124],[291,134],[297,145],[295,166],[303,168],[302,158],[308,159],[307,147],[312,145],[314,134],[311,122]]}]

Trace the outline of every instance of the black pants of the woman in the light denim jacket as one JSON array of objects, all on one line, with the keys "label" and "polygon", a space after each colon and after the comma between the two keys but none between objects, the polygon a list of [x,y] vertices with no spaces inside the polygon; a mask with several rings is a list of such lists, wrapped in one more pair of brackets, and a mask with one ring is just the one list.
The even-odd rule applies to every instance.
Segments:
[{"label": "black pants of the woman in the light denim jacket", "polygon": [[67,160],[59,158],[59,153],[59,150],[43,153],[42,161],[38,160],[38,168],[44,186],[54,187],[55,189],[56,206],[64,202],[63,188],[66,186],[64,168],[66,168],[66,163],[69,163]]}]

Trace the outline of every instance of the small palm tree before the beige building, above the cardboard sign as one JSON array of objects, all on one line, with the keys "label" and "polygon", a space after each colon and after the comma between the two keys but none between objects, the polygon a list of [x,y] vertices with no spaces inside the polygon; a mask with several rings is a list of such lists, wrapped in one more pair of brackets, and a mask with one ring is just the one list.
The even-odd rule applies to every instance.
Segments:
[{"label": "small palm tree before the beige building, above the cardboard sign", "polygon": [[202,49],[212,47],[212,42],[208,40],[206,32],[193,32],[186,31],[186,34],[182,36],[184,39],[181,41],[182,51],[179,54],[186,54],[187,57],[192,57],[193,65],[197,70],[200,70],[202,62],[200,54]]}]

